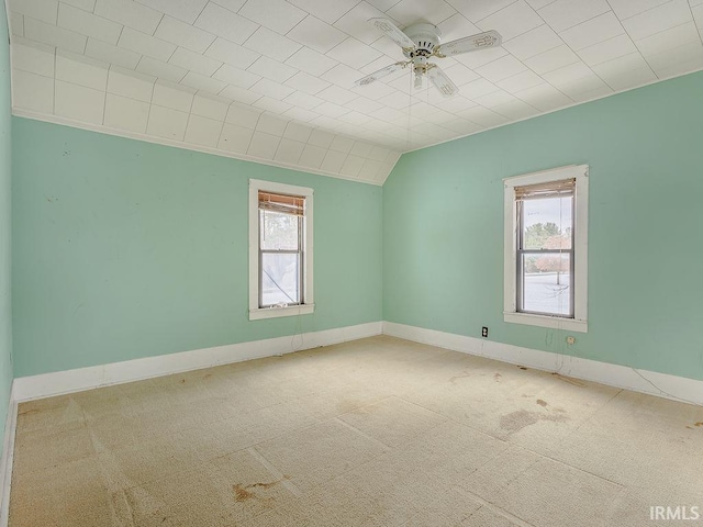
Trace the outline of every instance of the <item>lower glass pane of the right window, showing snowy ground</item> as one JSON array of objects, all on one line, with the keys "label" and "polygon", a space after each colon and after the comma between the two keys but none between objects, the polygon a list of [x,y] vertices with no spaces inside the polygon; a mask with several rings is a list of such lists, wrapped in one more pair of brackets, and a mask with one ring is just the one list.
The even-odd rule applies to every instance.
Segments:
[{"label": "lower glass pane of the right window, showing snowy ground", "polygon": [[571,255],[523,255],[521,311],[571,314]]}]

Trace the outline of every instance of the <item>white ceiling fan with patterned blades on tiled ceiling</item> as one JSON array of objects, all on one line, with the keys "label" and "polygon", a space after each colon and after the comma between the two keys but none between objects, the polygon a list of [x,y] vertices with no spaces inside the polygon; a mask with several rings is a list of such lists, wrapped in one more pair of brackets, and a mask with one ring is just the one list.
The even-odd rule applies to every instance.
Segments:
[{"label": "white ceiling fan with patterned blades on tiled ceiling", "polygon": [[395,44],[403,48],[403,55],[408,60],[391,64],[378,71],[357,80],[356,86],[366,86],[391,75],[400,69],[412,66],[415,75],[415,88],[422,87],[422,77],[427,75],[432,83],[444,97],[456,94],[459,89],[447,77],[439,66],[428,61],[429,57],[445,58],[462,53],[478,52],[491,47],[498,47],[502,43],[501,35],[496,31],[487,31],[477,35],[465,36],[456,41],[440,44],[442,31],[432,24],[415,24],[401,31],[388,19],[369,19],[376,29],[386,33]]}]

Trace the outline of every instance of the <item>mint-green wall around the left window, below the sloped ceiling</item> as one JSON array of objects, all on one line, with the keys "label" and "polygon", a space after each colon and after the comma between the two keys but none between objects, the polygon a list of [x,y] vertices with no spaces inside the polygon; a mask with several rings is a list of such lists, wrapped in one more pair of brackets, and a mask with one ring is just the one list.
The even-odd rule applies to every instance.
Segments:
[{"label": "mint-green wall around the left window, below the sloped ceiling", "polygon": [[[248,319],[248,179],[312,187],[315,313]],[[381,319],[382,189],[13,120],[16,377]]]}]

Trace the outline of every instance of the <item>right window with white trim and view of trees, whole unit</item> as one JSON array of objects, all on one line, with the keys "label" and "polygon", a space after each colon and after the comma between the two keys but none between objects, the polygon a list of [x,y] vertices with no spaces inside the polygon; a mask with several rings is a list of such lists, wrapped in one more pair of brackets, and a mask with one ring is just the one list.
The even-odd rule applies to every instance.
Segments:
[{"label": "right window with white trim and view of trees, whole unit", "polygon": [[504,180],[505,322],[587,332],[588,170]]}]

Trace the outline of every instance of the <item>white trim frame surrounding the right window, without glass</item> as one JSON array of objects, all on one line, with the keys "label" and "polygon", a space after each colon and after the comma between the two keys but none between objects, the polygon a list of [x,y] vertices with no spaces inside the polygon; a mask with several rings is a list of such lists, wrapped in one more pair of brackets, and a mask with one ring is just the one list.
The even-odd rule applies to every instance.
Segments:
[{"label": "white trim frame surrounding the right window, without glass", "polygon": [[[517,313],[517,209],[515,187],[576,178],[576,211],[573,229],[573,318]],[[514,324],[551,327],[571,332],[588,332],[588,228],[589,166],[570,165],[542,172],[503,179],[504,191],[504,276],[503,319]]]}]

